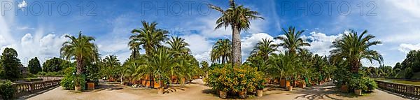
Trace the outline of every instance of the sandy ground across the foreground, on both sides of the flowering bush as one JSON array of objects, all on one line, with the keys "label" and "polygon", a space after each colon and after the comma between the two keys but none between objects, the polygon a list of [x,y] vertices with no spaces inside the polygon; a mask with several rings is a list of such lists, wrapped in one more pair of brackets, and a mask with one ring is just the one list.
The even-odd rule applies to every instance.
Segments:
[{"label": "sandy ground across the foreground, on both sides of the flowering bush", "polygon": [[[27,99],[33,100],[55,100],[55,99],[109,99],[109,100],[137,100],[137,99],[171,99],[171,100],[210,100],[220,99],[211,88],[202,85],[202,80],[194,80],[195,84],[188,84],[184,87],[179,85],[169,87],[165,90],[166,94],[158,95],[157,90],[149,90],[144,88],[132,88],[118,84],[104,83],[97,90],[76,93],[68,90],[63,90],[62,87],[57,87],[48,92],[43,92],[34,97]],[[264,97],[251,97],[250,99],[267,99],[267,100],[289,100],[289,99],[378,99],[378,100],[398,100],[405,99],[388,92],[381,90],[374,90],[370,94],[364,94],[362,97],[354,96],[353,94],[343,94],[336,92],[332,85],[321,85],[318,87],[295,88],[293,92],[287,92],[276,87],[267,87],[264,92]]]}]

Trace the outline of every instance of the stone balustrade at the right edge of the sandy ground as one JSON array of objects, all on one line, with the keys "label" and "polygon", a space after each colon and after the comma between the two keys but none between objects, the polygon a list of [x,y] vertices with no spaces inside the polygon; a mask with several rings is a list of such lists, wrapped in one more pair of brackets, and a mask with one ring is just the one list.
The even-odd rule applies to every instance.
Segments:
[{"label": "stone balustrade at the right edge of the sandy ground", "polygon": [[398,94],[405,95],[407,97],[420,98],[420,86],[419,85],[406,85],[400,83],[390,83],[381,80],[374,80],[378,87],[383,90],[388,90]]}]

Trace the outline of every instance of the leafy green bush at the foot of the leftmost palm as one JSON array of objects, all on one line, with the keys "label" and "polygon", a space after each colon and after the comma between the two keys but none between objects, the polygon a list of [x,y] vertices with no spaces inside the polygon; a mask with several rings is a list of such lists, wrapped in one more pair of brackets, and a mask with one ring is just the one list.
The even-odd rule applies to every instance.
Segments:
[{"label": "leafy green bush at the foot of the leftmost palm", "polygon": [[61,85],[62,87],[64,87],[64,90],[74,90],[74,86],[76,85],[76,79],[78,80],[78,82],[80,83],[80,86],[82,87],[82,90],[85,90],[85,85],[86,85],[86,80],[85,80],[85,76],[79,76],[78,78],[76,78],[75,75],[73,75],[73,73],[76,73],[76,68],[74,67],[69,67],[65,70],[66,75],[64,76],[64,78],[61,81]]}]

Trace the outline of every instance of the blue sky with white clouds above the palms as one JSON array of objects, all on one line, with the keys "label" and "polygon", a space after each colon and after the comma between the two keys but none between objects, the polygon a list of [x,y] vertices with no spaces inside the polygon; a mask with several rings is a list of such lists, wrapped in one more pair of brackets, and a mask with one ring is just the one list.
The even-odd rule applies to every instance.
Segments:
[{"label": "blue sky with white clouds above the palms", "polygon": [[[208,61],[214,41],[230,38],[231,31],[214,29],[220,13],[207,8],[207,3],[228,7],[228,0],[3,0],[0,47],[1,51],[7,47],[18,50],[24,65],[32,57],[45,62],[45,59],[59,57],[59,48],[67,41],[64,34],[76,35],[83,31],[96,38],[94,43],[102,56],[118,55],[118,59],[124,61],[130,55],[127,47],[130,31],[141,28],[141,20],[146,20],[158,22],[158,27],[169,30],[172,36],[186,38],[193,55],[200,61]],[[371,49],[384,56],[386,65],[402,62],[409,50],[420,49],[420,1],[237,0],[237,3],[260,12],[265,18],[253,20],[251,29],[241,33],[244,59],[261,38],[281,36],[281,28],[289,26],[305,30],[302,37],[312,45],[308,49],[319,55],[328,55],[331,42],[346,29],[360,32],[367,29],[369,34],[377,36],[374,40],[383,44]]]}]

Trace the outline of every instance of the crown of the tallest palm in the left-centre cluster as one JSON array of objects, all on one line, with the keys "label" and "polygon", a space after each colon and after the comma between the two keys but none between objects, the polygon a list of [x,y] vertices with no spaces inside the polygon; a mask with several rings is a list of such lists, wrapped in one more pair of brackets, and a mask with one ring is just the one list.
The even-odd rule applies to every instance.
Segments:
[{"label": "crown of the tallest palm in the left-centre cluster", "polygon": [[167,40],[168,31],[156,29],[156,22],[141,21],[141,24],[143,28],[131,31],[133,35],[130,36],[129,45],[141,45],[146,50],[146,55],[151,55],[151,52],[160,46],[160,42]]}]

